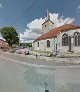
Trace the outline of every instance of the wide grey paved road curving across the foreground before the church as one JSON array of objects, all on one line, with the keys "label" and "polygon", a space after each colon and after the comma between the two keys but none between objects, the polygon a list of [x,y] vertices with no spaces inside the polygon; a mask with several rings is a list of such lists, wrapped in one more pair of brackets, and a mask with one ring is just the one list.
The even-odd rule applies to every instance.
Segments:
[{"label": "wide grey paved road curving across the foreground before the church", "polygon": [[[49,65],[48,65],[49,64]],[[0,92],[80,92],[80,66],[0,52]]]}]

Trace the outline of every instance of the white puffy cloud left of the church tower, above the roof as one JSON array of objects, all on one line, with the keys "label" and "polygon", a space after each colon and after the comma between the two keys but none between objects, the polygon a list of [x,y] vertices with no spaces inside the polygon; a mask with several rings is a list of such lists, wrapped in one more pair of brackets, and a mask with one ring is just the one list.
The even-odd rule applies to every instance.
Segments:
[{"label": "white puffy cloud left of the church tower, above the roof", "polygon": [[28,42],[32,41],[35,38],[39,37],[42,32],[42,23],[45,21],[45,19],[35,19],[32,22],[27,24],[27,29],[25,29],[25,32],[23,34],[20,33],[20,41],[21,42]]}]

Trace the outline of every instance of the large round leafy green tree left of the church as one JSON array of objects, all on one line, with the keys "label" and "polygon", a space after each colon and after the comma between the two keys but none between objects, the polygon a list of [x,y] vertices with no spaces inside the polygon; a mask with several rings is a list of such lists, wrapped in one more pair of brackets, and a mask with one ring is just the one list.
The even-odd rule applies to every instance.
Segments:
[{"label": "large round leafy green tree left of the church", "polygon": [[0,29],[0,32],[9,46],[12,47],[13,44],[19,43],[18,33],[13,27],[3,27]]}]

